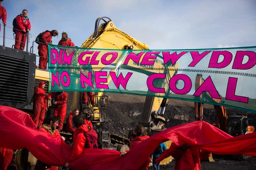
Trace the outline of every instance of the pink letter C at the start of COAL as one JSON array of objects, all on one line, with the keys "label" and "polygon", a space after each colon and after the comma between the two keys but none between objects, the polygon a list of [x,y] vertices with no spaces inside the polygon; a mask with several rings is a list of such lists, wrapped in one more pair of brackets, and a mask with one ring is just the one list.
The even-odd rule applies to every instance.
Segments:
[{"label": "pink letter C at the start of COAL", "polygon": [[147,79],[147,86],[148,86],[148,89],[151,91],[151,92],[155,92],[155,93],[165,93],[165,90],[164,88],[156,88],[154,85],[153,85],[153,82],[155,79],[165,79],[165,74],[161,74],[161,73],[154,73],[154,74],[151,74],[150,76],[148,76],[148,79]]}]

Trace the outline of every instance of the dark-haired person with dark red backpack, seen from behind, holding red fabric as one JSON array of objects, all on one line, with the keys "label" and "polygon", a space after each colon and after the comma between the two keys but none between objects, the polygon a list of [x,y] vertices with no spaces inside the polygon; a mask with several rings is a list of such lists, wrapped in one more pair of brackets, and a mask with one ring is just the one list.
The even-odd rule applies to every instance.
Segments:
[{"label": "dark-haired person with dark red backpack, seen from behind, holding red fabric", "polygon": [[72,144],[73,151],[68,162],[65,164],[66,167],[83,153],[84,148],[98,148],[97,133],[93,129],[88,129],[82,116],[73,116],[72,126],[75,129]]}]

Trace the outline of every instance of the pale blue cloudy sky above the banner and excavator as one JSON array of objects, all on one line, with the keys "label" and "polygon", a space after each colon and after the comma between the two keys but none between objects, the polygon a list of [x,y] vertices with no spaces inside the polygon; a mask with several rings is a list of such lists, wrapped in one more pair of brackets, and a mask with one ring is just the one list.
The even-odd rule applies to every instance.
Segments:
[{"label": "pale blue cloudy sky above the banner and excavator", "polygon": [[[13,18],[27,9],[31,34],[52,29],[65,31],[76,46],[92,34],[96,18],[102,16],[111,18],[118,29],[150,49],[256,45],[255,0],[4,0],[2,5],[7,10],[7,26],[12,27]],[[3,36],[3,27],[0,35]],[[6,37],[13,39],[12,29],[7,28]],[[60,38],[54,37],[53,44]],[[29,47],[34,39],[31,37]],[[6,40],[6,46],[12,44],[13,40]]]}]

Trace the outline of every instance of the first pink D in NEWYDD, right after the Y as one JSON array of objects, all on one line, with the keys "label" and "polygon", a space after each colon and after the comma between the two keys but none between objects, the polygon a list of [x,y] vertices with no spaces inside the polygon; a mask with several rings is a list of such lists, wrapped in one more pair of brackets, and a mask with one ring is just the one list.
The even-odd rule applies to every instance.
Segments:
[{"label": "first pink D in NEWYDD, right after the Y", "polygon": [[[218,63],[220,55],[223,55],[224,59]],[[232,54],[229,51],[213,51],[209,63],[209,68],[224,68],[232,61]]]}]

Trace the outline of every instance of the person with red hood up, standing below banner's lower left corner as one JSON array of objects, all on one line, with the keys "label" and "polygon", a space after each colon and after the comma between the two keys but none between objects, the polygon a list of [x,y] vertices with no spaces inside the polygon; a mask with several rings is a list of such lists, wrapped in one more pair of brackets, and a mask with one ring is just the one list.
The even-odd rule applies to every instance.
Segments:
[{"label": "person with red hood up, standing below banner's lower left corner", "polygon": [[36,88],[34,92],[35,104],[33,108],[33,121],[36,124],[36,127],[41,127],[44,122],[44,115],[47,111],[47,99],[50,98],[50,96],[44,92],[44,87],[45,83],[41,81],[39,87]]}]

